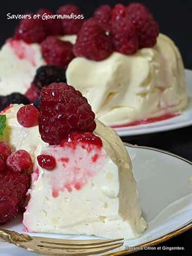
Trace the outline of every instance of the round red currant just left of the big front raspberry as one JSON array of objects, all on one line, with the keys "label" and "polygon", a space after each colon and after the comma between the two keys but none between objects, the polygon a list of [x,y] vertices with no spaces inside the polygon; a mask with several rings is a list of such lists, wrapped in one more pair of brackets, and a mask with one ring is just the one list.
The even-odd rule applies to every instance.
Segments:
[{"label": "round red currant just left of the big front raspberry", "polygon": [[22,106],[17,111],[17,121],[24,127],[32,127],[38,124],[39,112],[33,105]]}]

